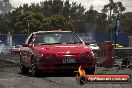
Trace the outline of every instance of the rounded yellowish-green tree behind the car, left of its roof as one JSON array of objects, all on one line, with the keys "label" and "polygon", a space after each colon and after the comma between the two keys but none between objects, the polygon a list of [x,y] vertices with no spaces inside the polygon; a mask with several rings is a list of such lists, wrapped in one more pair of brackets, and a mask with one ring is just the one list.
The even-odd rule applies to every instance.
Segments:
[{"label": "rounded yellowish-green tree behind the car, left of its roof", "polygon": [[14,32],[30,33],[33,31],[39,31],[43,17],[44,16],[41,13],[32,11],[23,13],[14,24]]}]

